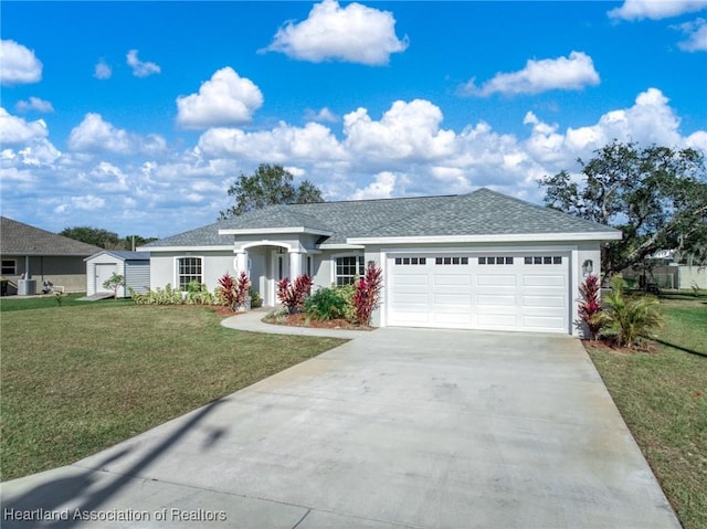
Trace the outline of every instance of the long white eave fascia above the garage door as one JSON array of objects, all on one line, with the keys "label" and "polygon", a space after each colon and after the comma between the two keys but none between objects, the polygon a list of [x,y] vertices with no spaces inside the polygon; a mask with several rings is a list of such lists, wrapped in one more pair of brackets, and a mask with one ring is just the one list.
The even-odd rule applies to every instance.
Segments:
[{"label": "long white eave fascia above the garage door", "polygon": [[484,235],[430,235],[397,237],[350,237],[349,244],[458,244],[458,243],[510,243],[510,242],[552,242],[552,241],[618,241],[620,231],[580,232],[580,233],[502,233]]}]

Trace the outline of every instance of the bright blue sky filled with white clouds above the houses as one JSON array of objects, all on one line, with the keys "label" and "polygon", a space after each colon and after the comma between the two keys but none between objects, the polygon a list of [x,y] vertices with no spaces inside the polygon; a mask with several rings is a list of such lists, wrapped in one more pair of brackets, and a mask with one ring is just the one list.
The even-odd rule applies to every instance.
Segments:
[{"label": "bright blue sky filled with white clouds above the houses", "polygon": [[166,236],[282,163],[327,200],[707,152],[707,0],[2,2],[2,214]]}]

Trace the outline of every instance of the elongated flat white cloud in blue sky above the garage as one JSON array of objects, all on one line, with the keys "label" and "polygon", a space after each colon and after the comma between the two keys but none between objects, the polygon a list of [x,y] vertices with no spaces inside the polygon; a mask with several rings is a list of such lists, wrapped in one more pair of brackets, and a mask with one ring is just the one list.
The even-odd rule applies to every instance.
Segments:
[{"label": "elongated flat white cloud in blue sky above the garage", "polygon": [[530,59],[525,68],[498,73],[481,87],[472,78],[460,88],[460,94],[481,97],[492,94],[539,94],[553,89],[582,89],[599,82],[592,59],[583,52],[573,51],[568,57]]}]

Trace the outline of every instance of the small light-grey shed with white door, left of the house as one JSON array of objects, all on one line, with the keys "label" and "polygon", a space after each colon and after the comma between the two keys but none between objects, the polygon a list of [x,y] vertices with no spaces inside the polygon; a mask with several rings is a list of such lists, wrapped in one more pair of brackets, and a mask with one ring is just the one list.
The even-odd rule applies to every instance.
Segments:
[{"label": "small light-grey shed with white door, left of the house", "polygon": [[103,284],[113,274],[122,275],[125,286],[118,287],[118,297],[128,297],[130,288],[145,294],[150,287],[150,254],[147,252],[123,252],[104,250],[86,257],[86,296],[110,293]]}]

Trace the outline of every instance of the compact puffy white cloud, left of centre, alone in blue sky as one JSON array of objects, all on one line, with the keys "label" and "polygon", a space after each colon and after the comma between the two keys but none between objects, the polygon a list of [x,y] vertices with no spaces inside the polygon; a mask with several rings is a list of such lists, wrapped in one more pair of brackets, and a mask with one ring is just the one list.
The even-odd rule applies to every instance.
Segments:
[{"label": "compact puffy white cloud, left of centre, alone in blue sky", "polygon": [[230,66],[215,72],[199,94],[177,98],[177,123],[191,129],[242,125],[263,105],[263,94]]}]

